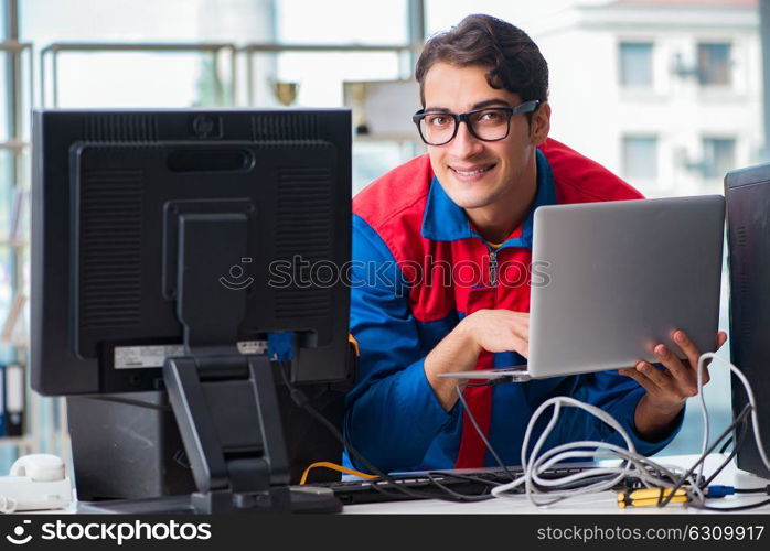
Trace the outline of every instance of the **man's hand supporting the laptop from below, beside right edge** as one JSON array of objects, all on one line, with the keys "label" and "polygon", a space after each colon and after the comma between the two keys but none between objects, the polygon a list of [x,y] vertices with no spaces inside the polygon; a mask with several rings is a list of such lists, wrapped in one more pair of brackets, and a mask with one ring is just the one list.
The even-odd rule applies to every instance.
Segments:
[{"label": "man's hand supporting the laptop from below, beside right edge", "polygon": [[[659,344],[653,348],[653,353],[665,366],[660,370],[646,361],[640,361],[635,368],[620,369],[619,374],[631,377],[646,390],[646,402],[649,407],[659,408],[661,412],[678,413],[687,398],[698,393],[698,350],[695,343],[685,334],[677,329],[673,334],[674,343],[686,356],[686,360],[681,360],[667,346]],[[716,349],[719,349],[727,341],[727,333],[717,333]],[[703,382],[708,382],[708,368],[704,367]]]}]

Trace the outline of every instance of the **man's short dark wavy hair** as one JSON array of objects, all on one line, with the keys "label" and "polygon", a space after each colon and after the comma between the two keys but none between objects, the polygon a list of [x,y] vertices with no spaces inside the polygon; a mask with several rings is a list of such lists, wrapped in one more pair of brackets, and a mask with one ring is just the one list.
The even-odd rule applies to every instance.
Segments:
[{"label": "man's short dark wavy hair", "polygon": [[423,107],[425,76],[440,62],[489,67],[489,85],[517,94],[522,101],[548,99],[548,64],[537,45],[517,26],[491,15],[468,15],[425,44],[415,69]]}]

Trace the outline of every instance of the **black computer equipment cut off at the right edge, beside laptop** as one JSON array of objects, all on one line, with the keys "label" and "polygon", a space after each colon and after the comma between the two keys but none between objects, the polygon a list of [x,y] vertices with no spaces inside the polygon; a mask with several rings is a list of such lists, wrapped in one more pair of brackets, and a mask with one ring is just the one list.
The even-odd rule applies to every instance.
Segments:
[{"label": "black computer equipment cut off at the right edge, beside laptop", "polygon": [[[762,441],[770,442],[770,164],[729,172],[727,199],[730,269],[730,355],[751,383]],[[732,377],[732,411],[748,403]],[[738,451],[738,467],[768,477],[749,426]]]}]

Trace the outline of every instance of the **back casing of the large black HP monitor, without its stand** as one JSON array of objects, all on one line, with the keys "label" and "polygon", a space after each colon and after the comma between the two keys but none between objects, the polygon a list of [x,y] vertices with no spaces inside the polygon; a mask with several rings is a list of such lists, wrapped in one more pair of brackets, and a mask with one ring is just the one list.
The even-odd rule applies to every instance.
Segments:
[{"label": "back casing of the large black HP monitor, without its stand", "polygon": [[295,382],[345,378],[349,289],[329,271],[350,258],[350,112],[45,110],[33,130],[35,390],[158,388],[182,344],[178,223],[206,212],[248,228],[221,274],[254,280],[238,341],[295,332]]}]

